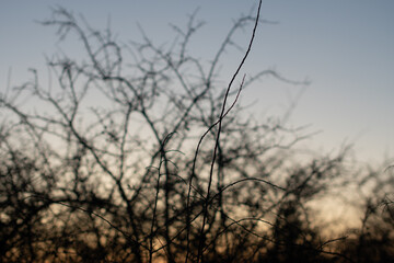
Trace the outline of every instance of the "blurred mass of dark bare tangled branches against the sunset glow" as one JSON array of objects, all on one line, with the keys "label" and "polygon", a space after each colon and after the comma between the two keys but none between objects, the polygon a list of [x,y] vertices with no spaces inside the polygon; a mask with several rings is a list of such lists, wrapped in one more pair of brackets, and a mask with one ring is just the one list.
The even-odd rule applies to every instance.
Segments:
[{"label": "blurred mass of dark bare tangled branches against the sunset glow", "polygon": [[[350,172],[348,148],[297,161],[306,130],[237,103],[260,78],[285,80],[273,70],[234,71],[223,88],[220,61],[258,13],[202,62],[188,49],[195,15],[171,45],[143,32],[124,44],[54,9],[43,24],[85,56],[56,54],[51,82],[32,70],[0,96],[0,261],[392,262],[389,164]],[[362,216],[328,236],[335,222],[318,225],[311,204],[335,190]]]}]

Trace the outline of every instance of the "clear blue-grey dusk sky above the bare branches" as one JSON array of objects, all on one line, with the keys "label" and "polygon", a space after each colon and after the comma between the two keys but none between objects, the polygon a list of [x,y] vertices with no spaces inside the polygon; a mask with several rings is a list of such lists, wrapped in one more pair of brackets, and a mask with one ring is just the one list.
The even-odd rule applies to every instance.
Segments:
[{"label": "clear blue-grey dusk sky above the bare branches", "polygon": [[[155,43],[169,39],[169,24],[184,25],[198,9],[206,22],[190,50],[209,59],[233,20],[256,9],[255,0],[2,0],[0,1],[0,93],[28,80],[28,68],[45,71],[45,56],[61,47],[55,30],[36,23],[61,5],[83,14],[96,28],[111,28],[120,39],[140,39],[138,24]],[[264,0],[262,24],[244,72],[275,69],[293,87],[274,79],[243,93],[262,114],[280,114],[303,90],[291,125],[320,132],[308,145],[331,152],[354,144],[363,162],[394,158],[394,1],[393,0]],[[250,32],[240,35],[245,45]],[[237,39],[236,39],[237,41]],[[76,48],[78,53],[78,47]],[[234,64],[242,56],[229,52]],[[232,65],[230,64],[230,65]],[[223,71],[229,79],[230,71]]]}]

